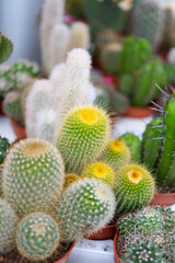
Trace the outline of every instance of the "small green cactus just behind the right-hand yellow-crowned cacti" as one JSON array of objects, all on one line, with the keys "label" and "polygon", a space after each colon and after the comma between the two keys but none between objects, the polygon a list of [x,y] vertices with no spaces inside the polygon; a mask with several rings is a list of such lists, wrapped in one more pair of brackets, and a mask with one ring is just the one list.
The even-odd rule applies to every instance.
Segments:
[{"label": "small green cactus just behind the right-hand yellow-crowned cacti", "polygon": [[119,137],[129,147],[131,161],[139,162],[141,159],[141,140],[135,134],[126,133]]}]

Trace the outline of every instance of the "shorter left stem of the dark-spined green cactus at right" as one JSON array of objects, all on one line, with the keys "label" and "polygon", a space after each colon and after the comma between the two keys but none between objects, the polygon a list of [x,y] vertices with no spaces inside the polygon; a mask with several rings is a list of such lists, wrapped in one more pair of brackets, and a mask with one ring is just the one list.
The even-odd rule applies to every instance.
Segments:
[{"label": "shorter left stem of the dark-spined green cactus at right", "polygon": [[142,137],[142,161],[153,170],[161,152],[163,136],[163,118],[153,118],[148,125]]}]

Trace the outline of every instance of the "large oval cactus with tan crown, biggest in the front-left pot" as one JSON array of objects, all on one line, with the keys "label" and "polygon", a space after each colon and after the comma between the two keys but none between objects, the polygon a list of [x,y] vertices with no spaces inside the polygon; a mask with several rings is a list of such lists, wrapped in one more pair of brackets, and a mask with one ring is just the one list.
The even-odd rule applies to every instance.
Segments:
[{"label": "large oval cactus with tan crown, biggest in the front-left pot", "polygon": [[15,144],[4,162],[2,190],[20,216],[49,211],[63,187],[65,173],[60,153],[42,139]]}]

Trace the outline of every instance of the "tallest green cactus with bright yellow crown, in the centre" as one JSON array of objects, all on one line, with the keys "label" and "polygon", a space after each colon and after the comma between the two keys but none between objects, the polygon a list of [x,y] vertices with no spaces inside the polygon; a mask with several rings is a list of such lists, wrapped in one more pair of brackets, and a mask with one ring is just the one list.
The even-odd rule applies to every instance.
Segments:
[{"label": "tallest green cactus with bright yellow crown, in the centre", "polygon": [[109,138],[110,126],[106,113],[97,106],[71,110],[56,135],[67,172],[81,169],[100,157]]}]

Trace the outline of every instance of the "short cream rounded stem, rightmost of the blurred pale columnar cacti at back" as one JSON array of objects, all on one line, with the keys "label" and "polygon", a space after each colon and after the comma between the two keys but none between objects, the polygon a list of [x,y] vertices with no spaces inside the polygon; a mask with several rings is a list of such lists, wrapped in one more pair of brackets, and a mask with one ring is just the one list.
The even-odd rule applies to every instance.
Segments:
[{"label": "short cream rounded stem, rightmost of the blurred pale columnar cacti at back", "polygon": [[90,48],[90,27],[82,22],[74,22],[71,26],[69,50],[73,48]]}]

